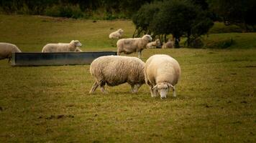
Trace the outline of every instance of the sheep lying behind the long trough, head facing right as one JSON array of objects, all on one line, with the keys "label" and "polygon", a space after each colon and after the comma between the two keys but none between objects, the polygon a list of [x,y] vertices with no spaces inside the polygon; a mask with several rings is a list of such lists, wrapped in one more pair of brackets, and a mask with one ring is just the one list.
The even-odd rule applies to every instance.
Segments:
[{"label": "sheep lying behind the long trough, head facing right", "polygon": [[70,43],[46,44],[42,48],[42,52],[67,52],[67,51],[81,51],[78,46],[82,46],[80,41],[72,40]]}]

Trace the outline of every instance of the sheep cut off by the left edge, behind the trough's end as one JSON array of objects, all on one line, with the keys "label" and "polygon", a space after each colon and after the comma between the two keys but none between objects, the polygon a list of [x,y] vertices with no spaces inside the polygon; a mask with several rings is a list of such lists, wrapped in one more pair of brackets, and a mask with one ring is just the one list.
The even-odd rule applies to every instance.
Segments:
[{"label": "sheep cut off by the left edge, behind the trough's end", "polygon": [[9,59],[8,62],[10,62],[14,52],[20,53],[22,51],[14,44],[0,43],[0,59]]}]

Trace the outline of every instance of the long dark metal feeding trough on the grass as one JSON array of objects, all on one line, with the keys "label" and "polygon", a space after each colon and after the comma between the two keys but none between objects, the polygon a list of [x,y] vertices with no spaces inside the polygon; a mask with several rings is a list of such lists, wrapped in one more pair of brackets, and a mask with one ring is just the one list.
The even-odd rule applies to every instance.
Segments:
[{"label": "long dark metal feeding trough on the grass", "polygon": [[116,55],[116,51],[13,53],[12,66],[60,66],[91,64],[91,62],[99,56],[107,55]]}]

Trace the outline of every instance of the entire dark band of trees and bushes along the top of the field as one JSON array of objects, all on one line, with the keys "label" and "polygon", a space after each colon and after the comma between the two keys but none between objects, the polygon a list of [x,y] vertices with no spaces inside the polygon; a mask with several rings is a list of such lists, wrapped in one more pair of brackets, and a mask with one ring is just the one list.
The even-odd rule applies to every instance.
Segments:
[{"label": "entire dark band of trees and bushes along the top of the field", "polygon": [[[187,47],[204,47],[202,36],[214,21],[237,25],[242,31],[255,31],[256,2],[230,0],[0,0],[2,14],[32,14],[85,19],[132,19],[133,37],[150,34],[163,42],[180,38]],[[226,41],[224,42],[226,43]],[[231,45],[233,40],[228,41]],[[226,44],[225,44],[226,45]]]}]

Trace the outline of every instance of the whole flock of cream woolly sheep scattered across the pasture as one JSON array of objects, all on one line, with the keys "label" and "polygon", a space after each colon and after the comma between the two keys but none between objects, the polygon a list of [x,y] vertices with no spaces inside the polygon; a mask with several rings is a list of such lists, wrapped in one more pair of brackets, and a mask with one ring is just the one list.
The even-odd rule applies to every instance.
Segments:
[{"label": "whole flock of cream woolly sheep scattered across the pasture", "polygon": [[[93,87],[89,93],[93,93],[97,87],[101,92],[107,93],[104,89],[105,84],[116,86],[128,83],[131,86],[131,92],[136,93],[142,84],[150,87],[152,97],[160,94],[161,99],[166,98],[169,89],[173,90],[175,97],[175,84],[180,77],[180,65],[178,61],[165,54],[155,54],[147,59],[146,62],[140,58],[143,49],[160,47],[160,40],[152,41],[150,35],[144,35],[142,38],[120,39],[123,34],[122,29],[109,34],[110,39],[119,39],[116,42],[117,56],[101,56],[94,59],[90,66],[90,73],[95,78]],[[162,48],[172,48],[173,44],[168,41]],[[79,47],[82,44],[78,40],[70,43],[46,44],[42,52],[65,52],[82,51]],[[12,58],[13,52],[22,52],[16,45],[9,43],[0,43],[0,59]],[[138,57],[120,56],[121,53],[138,53]]]}]

